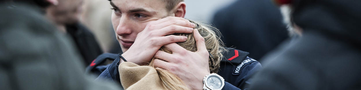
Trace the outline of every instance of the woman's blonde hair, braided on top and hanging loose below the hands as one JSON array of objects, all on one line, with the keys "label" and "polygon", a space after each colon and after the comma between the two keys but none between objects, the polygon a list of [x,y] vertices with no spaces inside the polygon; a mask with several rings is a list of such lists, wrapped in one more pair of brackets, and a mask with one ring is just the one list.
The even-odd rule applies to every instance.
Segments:
[{"label": "woman's blonde hair, braided on top and hanging loose below the hands", "polygon": [[[219,38],[220,36],[219,30],[207,24],[197,23],[194,21],[190,21],[190,22],[196,24],[195,29],[197,29],[200,35],[205,39],[206,49],[212,56],[209,58],[210,73],[217,73],[220,67],[219,66],[220,61],[223,57],[222,52],[226,51],[226,49],[223,48],[224,46],[223,42]],[[197,51],[196,41],[193,37],[193,33],[191,34],[174,33],[173,35],[187,36],[188,37],[187,41],[178,42],[177,44],[189,51],[193,51],[193,52]],[[165,51],[167,53],[172,53],[171,51],[165,49],[164,47],[160,48],[159,50]],[[153,66],[154,59],[155,58],[153,57],[149,66]],[[161,68],[156,68],[156,70],[159,77],[161,78],[163,86],[166,87],[168,90],[189,90],[187,86],[184,84],[184,82],[177,75],[174,75],[173,73]]]}]

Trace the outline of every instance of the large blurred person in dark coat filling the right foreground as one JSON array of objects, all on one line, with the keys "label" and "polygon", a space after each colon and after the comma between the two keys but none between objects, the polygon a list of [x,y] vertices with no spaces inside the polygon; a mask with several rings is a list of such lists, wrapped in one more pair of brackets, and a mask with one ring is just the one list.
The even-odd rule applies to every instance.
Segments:
[{"label": "large blurred person in dark coat filling the right foreground", "polygon": [[361,0],[277,0],[291,4],[302,36],[264,61],[252,90],[360,90]]}]

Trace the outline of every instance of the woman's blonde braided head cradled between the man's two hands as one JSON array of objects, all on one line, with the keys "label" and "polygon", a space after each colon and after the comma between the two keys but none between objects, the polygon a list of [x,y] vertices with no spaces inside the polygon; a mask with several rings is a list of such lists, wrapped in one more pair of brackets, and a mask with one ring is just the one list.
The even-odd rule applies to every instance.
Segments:
[{"label": "woman's blonde braided head cradled between the man's two hands", "polygon": [[[209,58],[209,70],[210,73],[217,73],[219,68],[219,62],[222,58],[222,51],[225,51],[223,48],[223,42],[219,38],[219,31],[207,24],[194,22],[189,20],[192,23],[195,23],[196,26],[194,29],[197,29],[200,35],[205,40],[206,49],[208,52],[213,56]],[[184,49],[189,51],[197,51],[196,41],[193,37],[193,33],[174,33],[173,35],[178,36],[187,36],[188,39],[184,42],[177,42],[178,45],[182,46]],[[160,50],[165,51],[167,53],[172,53],[171,51],[167,50],[166,48],[162,47]]]}]

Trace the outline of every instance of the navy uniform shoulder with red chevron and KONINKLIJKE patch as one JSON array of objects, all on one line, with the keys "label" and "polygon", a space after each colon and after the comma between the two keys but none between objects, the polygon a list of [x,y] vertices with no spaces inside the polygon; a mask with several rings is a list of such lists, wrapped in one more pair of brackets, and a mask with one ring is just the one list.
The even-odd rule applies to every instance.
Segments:
[{"label": "navy uniform shoulder with red chevron and KONINKLIJKE patch", "polygon": [[225,78],[233,86],[239,89],[246,89],[251,76],[262,68],[261,64],[250,57],[249,53],[233,48],[226,48],[229,51],[223,53],[221,67],[218,74]]}]

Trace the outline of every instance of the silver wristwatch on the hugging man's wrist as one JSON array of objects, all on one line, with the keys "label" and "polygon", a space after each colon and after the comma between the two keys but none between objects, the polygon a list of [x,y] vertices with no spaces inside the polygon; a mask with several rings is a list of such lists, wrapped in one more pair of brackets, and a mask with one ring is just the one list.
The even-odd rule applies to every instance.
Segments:
[{"label": "silver wristwatch on the hugging man's wrist", "polygon": [[225,85],[225,79],[212,73],[203,78],[203,84],[203,90],[221,90]]}]

